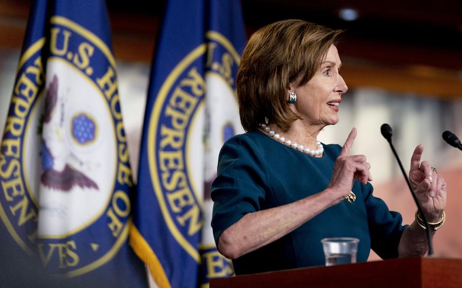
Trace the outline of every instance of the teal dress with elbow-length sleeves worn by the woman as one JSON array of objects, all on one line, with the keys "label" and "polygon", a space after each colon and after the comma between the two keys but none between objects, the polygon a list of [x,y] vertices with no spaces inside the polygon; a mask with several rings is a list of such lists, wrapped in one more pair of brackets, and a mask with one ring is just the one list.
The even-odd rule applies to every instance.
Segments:
[{"label": "teal dress with elbow-length sleeves worn by the woman", "polygon": [[[339,145],[324,145],[321,158],[286,147],[260,131],[230,138],[221,149],[212,184],[215,242],[245,214],[292,203],[323,191],[331,181]],[[282,238],[233,260],[237,275],[324,265],[321,239],[356,237],[357,261],[372,249],[383,259],[398,257],[407,226],[398,212],[372,195],[371,184],[354,182],[356,201],[329,207]]]}]

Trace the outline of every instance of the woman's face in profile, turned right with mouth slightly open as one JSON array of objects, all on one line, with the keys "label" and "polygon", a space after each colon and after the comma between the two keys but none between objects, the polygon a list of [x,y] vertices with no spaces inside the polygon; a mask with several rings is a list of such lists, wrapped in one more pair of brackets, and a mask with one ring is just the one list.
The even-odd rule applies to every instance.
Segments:
[{"label": "woman's face in profile, turned right with mouth slightly open", "polygon": [[341,95],[348,90],[339,74],[341,65],[337,48],[331,45],[313,78],[304,85],[290,86],[291,91],[297,94],[297,100],[289,105],[303,122],[323,127],[339,122]]}]

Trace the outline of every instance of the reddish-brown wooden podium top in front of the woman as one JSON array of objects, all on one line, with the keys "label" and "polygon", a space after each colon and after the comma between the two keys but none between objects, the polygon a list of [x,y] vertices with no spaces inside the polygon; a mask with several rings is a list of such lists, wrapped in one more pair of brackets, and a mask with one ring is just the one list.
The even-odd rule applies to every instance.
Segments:
[{"label": "reddish-brown wooden podium top in front of the woman", "polygon": [[405,258],[210,280],[218,287],[462,287],[462,259]]}]

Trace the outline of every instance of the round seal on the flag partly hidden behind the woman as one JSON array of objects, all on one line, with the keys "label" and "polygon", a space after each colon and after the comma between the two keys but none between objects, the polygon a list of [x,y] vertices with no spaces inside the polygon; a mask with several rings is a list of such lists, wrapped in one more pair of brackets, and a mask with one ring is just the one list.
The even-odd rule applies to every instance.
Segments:
[{"label": "round seal on the flag partly hidden behind the woman", "polygon": [[208,31],[206,40],[175,66],[156,95],[148,161],[166,226],[192,259],[206,265],[206,278],[212,278],[233,269],[216,248],[210,249],[215,244],[209,186],[223,142],[243,129],[234,78],[240,56],[216,31]]}]

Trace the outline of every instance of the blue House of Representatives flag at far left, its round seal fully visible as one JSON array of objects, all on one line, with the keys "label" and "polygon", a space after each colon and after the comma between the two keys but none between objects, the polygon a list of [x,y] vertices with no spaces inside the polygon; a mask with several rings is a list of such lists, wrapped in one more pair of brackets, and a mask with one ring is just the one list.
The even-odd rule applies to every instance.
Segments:
[{"label": "blue House of Representatives flag at far left, its round seal fully visible", "polygon": [[79,286],[146,287],[132,187],[106,3],[35,2],[0,150],[2,246]]}]

